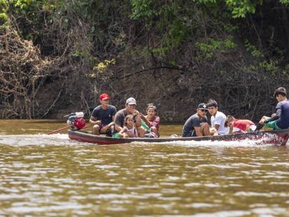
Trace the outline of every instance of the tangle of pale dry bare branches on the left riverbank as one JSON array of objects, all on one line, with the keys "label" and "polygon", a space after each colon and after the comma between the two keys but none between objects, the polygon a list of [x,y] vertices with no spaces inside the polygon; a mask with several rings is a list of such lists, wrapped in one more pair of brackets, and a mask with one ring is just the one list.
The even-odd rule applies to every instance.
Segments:
[{"label": "tangle of pale dry bare branches on the left riverbank", "polygon": [[43,79],[40,51],[31,41],[7,27],[0,35],[0,117],[31,118],[37,85]]}]

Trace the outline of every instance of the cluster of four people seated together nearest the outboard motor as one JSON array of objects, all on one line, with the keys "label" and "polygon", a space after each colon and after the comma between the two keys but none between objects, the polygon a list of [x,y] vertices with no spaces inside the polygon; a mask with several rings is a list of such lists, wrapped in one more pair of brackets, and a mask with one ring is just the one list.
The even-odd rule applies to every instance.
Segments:
[{"label": "cluster of four people seated together nearest the outboard motor", "polygon": [[147,114],[136,110],[135,98],[126,100],[125,108],[109,105],[110,96],[103,93],[99,96],[101,105],[94,108],[89,123],[93,126],[94,135],[106,134],[112,137],[159,137],[160,118],[156,106],[149,104]]}]

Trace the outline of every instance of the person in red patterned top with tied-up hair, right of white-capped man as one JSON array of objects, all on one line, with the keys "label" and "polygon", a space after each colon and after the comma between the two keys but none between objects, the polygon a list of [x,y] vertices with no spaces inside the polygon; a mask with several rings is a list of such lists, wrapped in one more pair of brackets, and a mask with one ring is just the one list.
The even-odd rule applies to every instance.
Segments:
[{"label": "person in red patterned top with tied-up hair, right of white-capped man", "polygon": [[159,137],[159,125],[160,125],[160,117],[156,114],[156,106],[152,103],[147,105],[147,115],[140,114],[140,118],[142,121],[142,127],[147,129],[148,133],[154,133],[157,137]]}]

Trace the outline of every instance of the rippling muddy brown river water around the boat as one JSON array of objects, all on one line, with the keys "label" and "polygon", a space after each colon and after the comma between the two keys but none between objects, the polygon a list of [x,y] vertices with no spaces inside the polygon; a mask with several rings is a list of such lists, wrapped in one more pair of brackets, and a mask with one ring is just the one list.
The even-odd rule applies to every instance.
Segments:
[{"label": "rippling muddy brown river water around the boat", "polygon": [[0,120],[0,216],[288,216],[288,147],[47,135],[61,126]]}]

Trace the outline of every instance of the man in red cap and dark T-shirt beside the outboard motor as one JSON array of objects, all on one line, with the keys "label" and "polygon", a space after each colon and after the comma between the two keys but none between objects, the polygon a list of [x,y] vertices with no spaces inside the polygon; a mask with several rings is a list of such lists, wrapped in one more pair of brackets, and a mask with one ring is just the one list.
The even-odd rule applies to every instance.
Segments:
[{"label": "man in red cap and dark T-shirt beside the outboard motor", "polygon": [[111,126],[113,125],[112,120],[114,119],[117,108],[113,105],[109,105],[110,96],[108,93],[103,93],[99,96],[101,105],[94,108],[91,114],[89,123],[93,126],[92,133],[94,135],[106,134],[112,135]]}]

